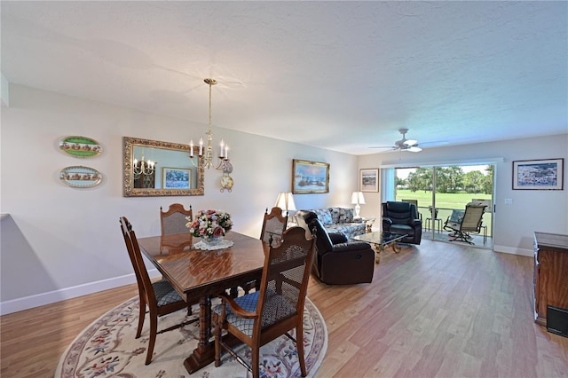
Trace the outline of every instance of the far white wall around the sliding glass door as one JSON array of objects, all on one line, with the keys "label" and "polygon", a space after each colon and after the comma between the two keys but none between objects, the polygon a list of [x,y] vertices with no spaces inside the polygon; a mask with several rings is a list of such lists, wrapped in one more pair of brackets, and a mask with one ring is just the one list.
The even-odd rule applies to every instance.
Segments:
[{"label": "far white wall around the sliding glass door", "polygon": [[[359,168],[406,163],[408,166],[419,166],[456,161],[485,162],[493,158],[501,158],[501,162],[495,164],[493,250],[532,256],[533,232],[568,233],[568,134],[467,146],[445,146],[423,149],[420,154],[372,154],[359,158]],[[556,158],[564,158],[564,190],[512,189],[512,161]],[[379,216],[380,194],[365,193],[365,197],[367,205],[361,206],[361,215]],[[505,205],[505,199],[513,200],[512,205]]]}]

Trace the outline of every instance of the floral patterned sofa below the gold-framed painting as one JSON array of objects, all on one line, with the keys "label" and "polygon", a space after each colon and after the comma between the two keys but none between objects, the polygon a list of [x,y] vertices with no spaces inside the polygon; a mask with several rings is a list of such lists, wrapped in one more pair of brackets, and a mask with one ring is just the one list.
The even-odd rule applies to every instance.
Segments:
[{"label": "floral patterned sofa below the gold-framed painting", "polygon": [[304,226],[313,214],[318,217],[327,232],[341,232],[348,239],[366,231],[365,222],[360,218],[353,218],[353,209],[346,208],[299,210],[295,215],[297,224]]}]

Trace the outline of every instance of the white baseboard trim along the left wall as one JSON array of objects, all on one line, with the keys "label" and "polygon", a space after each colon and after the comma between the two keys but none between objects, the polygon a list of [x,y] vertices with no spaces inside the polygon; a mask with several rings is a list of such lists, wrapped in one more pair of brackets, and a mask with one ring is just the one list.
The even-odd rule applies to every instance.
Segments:
[{"label": "white baseboard trim along the left wall", "polygon": [[[148,271],[151,278],[160,277],[160,272],[157,269]],[[90,282],[75,287],[65,287],[60,290],[54,290],[47,293],[24,296],[9,301],[0,302],[0,316],[7,315],[12,312],[24,311],[33,309],[35,307],[43,306],[45,304],[57,303],[67,299],[76,298],[78,296],[99,293],[99,291],[108,290],[109,288],[121,287],[130,285],[136,282],[134,273],[127,274],[121,277],[115,277],[108,280],[99,280]]]}]

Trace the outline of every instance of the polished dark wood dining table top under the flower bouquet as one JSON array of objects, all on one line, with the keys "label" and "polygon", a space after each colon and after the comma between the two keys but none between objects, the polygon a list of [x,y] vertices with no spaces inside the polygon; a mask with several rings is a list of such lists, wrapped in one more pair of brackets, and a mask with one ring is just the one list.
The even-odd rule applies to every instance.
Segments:
[{"label": "polished dark wood dining table top under the flower bouquet", "polygon": [[193,248],[199,241],[190,233],[139,238],[142,253],[147,256],[166,280],[188,297],[216,295],[227,282],[241,282],[262,275],[264,255],[268,246],[259,239],[228,232],[233,240],[230,248],[200,250]]}]

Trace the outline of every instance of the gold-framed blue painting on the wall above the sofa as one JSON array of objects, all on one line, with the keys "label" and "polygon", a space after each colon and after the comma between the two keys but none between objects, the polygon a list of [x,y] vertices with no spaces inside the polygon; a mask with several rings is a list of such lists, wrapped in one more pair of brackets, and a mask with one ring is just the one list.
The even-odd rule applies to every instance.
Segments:
[{"label": "gold-framed blue painting on the wall above the sofa", "polygon": [[294,159],[292,193],[329,193],[329,164]]}]

